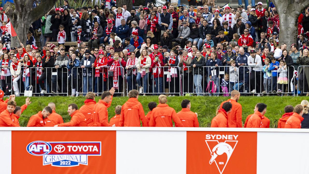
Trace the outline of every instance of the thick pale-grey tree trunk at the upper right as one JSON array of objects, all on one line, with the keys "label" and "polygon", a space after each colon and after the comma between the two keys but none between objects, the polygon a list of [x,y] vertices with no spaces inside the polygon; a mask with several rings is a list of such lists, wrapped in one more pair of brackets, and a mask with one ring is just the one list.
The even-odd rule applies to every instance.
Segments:
[{"label": "thick pale-grey tree trunk at the upper right", "polygon": [[279,42],[286,43],[289,49],[296,43],[298,36],[297,21],[300,13],[309,5],[308,0],[273,0],[279,14],[280,32]]}]

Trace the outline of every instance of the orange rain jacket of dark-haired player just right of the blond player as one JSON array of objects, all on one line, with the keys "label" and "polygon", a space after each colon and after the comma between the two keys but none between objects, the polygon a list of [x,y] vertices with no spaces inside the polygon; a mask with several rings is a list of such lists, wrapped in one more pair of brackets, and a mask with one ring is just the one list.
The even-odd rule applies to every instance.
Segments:
[{"label": "orange rain jacket of dark-haired player just right of the blond player", "polygon": [[189,108],[182,108],[177,112],[177,116],[181,120],[183,127],[199,127],[197,115],[190,111]]}]

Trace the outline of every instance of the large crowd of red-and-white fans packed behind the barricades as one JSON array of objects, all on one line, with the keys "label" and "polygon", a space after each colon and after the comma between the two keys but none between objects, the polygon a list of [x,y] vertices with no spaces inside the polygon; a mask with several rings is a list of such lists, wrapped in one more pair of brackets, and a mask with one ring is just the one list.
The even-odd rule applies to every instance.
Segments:
[{"label": "large crowd of red-and-white fans packed behind the barricades", "polygon": [[[10,95],[13,86],[16,96],[30,85],[36,95],[102,94],[112,87],[125,95],[132,89],[171,96],[229,96],[234,89],[303,95],[309,90],[308,8],[298,18],[297,41],[287,48],[279,45],[276,7],[264,7],[147,2],[127,9],[111,1],[80,8],[65,0],[32,24],[25,48],[11,48],[3,31],[1,87]],[[8,20],[2,9],[0,19],[2,25]]]}]

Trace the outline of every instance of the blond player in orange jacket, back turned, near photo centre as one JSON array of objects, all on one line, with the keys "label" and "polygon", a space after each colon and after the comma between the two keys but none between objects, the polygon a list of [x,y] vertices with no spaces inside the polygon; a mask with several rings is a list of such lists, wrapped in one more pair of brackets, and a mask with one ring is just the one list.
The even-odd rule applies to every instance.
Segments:
[{"label": "blond player in orange jacket, back turned, near photo centre", "polygon": [[159,95],[159,105],[152,110],[152,115],[149,120],[150,127],[173,127],[172,119],[176,127],[183,127],[174,108],[167,104],[166,95]]}]

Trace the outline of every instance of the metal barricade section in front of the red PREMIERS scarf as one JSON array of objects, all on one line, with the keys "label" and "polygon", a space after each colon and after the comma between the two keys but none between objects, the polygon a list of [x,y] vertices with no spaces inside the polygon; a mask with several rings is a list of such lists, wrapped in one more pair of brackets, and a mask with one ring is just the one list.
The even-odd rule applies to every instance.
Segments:
[{"label": "metal barricade section in front of the red PREMIERS scarf", "polygon": [[[99,95],[112,87],[116,89],[115,94],[125,95],[125,69],[124,67],[115,68],[117,68],[117,75],[113,74],[114,71],[109,71],[110,67],[102,67],[97,73],[94,67],[73,67],[69,78],[72,96],[86,95],[88,92]],[[120,76],[118,76],[119,73]]]}]

